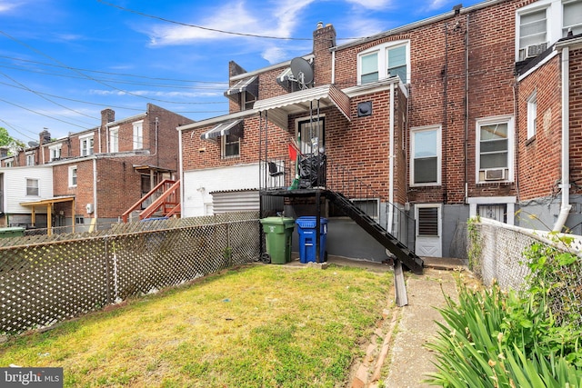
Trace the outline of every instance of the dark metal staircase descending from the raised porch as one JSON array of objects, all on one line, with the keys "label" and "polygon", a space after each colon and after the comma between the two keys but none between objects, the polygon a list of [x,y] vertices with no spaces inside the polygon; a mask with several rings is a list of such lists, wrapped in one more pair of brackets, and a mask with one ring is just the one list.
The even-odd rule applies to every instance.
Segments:
[{"label": "dark metal staircase descending from the raised porch", "polygon": [[376,241],[382,244],[388,251],[415,274],[422,274],[424,261],[413,251],[408,249],[398,239],[389,234],[382,225],[378,224],[372,217],[362,211],[356,204],[352,203],[343,194],[336,191],[326,191],[326,197],[349,216],[356,224],[360,225],[367,234],[370,234]]}]

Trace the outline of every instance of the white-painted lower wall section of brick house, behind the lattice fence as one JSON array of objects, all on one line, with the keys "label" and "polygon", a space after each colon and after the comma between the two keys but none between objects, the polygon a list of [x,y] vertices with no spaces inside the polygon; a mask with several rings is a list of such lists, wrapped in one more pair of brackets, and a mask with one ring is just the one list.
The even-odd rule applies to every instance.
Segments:
[{"label": "white-painted lower wall section of brick house, behind the lattice fence", "polygon": [[212,214],[212,192],[257,189],[258,164],[233,165],[184,173],[182,216]]}]

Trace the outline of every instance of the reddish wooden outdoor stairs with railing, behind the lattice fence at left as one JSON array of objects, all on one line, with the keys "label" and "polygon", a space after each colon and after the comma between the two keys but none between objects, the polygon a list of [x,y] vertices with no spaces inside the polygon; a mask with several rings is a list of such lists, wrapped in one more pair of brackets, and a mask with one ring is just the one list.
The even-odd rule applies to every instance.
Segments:
[{"label": "reddish wooden outdoor stairs with railing, behind the lattice fence at left", "polygon": [[[149,204],[148,204],[149,203]],[[147,207],[139,213],[139,219],[144,220],[159,213],[161,216],[170,217],[180,213],[180,181],[165,179],[156,185],[149,193],[133,204],[121,215],[124,223],[129,221],[130,215],[139,211],[143,204]]]}]

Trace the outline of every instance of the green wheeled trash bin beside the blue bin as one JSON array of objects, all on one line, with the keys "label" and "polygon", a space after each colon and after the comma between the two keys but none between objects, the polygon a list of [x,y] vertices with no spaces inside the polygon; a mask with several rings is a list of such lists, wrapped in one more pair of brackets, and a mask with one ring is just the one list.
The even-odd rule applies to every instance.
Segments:
[{"label": "green wheeled trash bin beside the blue bin", "polygon": [[291,261],[291,240],[295,220],[286,217],[266,217],[261,220],[265,232],[266,253],[272,264],[286,264]]}]

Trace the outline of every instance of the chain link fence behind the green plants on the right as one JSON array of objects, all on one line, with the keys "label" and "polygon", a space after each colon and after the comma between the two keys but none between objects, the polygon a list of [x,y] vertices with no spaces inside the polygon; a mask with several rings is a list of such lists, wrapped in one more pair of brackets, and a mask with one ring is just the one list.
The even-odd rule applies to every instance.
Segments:
[{"label": "chain link fence behind the green plants on the right", "polygon": [[[549,282],[548,304],[557,324],[566,320],[582,326],[582,236],[575,234],[550,234],[481,218],[468,225],[469,264],[485,285],[494,281],[502,289],[520,290],[526,286],[530,274],[524,251],[532,244],[543,243],[550,247],[545,265]],[[567,244],[564,243],[567,241]],[[561,264],[559,255],[577,256],[572,264]]]}]

